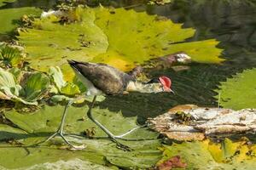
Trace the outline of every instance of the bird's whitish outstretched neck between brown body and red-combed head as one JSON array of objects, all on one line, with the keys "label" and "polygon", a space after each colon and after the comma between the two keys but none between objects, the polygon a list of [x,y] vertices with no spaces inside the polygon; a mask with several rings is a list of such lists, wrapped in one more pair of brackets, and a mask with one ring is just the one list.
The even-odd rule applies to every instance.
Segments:
[{"label": "bird's whitish outstretched neck between brown body and red-combed head", "polygon": [[143,82],[131,81],[128,83],[127,92],[140,92],[140,93],[158,93],[160,92],[159,84],[149,83],[145,84]]}]

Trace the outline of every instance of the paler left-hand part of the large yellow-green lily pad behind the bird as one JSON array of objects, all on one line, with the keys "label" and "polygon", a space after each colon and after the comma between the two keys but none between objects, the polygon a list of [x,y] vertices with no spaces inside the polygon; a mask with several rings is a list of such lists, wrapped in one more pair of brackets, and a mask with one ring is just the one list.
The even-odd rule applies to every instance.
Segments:
[{"label": "paler left-hand part of the large yellow-green lily pad behind the bird", "polygon": [[[48,71],[49,66],[67,66],[66,59],[88,61],[108,48],[108,37],[94,24],[95,14],[90,8],[76,13],[81,19],[61,25],[55,15],[34,21],[34,28],[20,31],[18,37],[26,45],[28,61],[34,69]],[[63,39],[64,38],[64,39]],[[86,45],[86,44],[87,45]]]}]

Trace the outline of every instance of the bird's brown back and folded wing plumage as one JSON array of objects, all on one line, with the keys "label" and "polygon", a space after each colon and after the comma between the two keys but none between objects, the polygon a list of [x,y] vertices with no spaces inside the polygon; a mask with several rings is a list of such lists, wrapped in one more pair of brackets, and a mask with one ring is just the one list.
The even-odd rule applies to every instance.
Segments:
[{"label": "bird's brown back and folded wing plumage", "polygon": [[79,71],[104,94],[120,94],[125,90],[128,82],[134,79],[134,77],[110,65],[75,60],[67,61],[73,69]]}]

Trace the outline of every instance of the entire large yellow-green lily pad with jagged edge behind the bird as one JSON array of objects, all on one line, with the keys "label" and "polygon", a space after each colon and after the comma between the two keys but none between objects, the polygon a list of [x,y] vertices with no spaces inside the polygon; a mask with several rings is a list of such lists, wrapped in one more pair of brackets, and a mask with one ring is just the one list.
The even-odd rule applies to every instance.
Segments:
[{"label": "entire large yellow-green lily pad with jagged edge behind the bird", "polygon": [[62,15],[69,20],[75,15],[76,21],[61,25],[61,19],[52,14],[35,20],[33,28],[20,31],[18,38],[26,45],[33,68],[45,71],[50,65],[61,66],[66,80],[73,77],[66,58],[104,62],[123,71],[135,62],[142,64],[178,51],[185,51],[197,62],[223,60],[218,58],[222,49],[215,47],[218,41],[183,42],[193,37],[195,30],[156,15],[103,7],[77,8],[73,14]]}]

